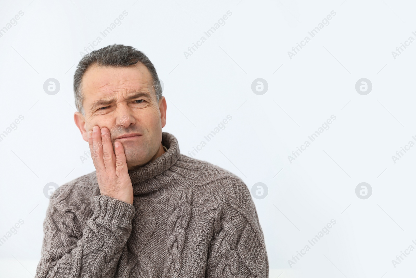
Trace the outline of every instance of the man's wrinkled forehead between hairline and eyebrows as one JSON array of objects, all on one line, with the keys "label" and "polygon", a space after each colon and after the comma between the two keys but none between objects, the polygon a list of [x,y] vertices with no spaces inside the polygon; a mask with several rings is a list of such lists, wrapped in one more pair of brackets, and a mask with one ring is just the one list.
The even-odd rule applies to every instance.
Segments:
[{"label": "man's wrinkled forehead between hairline and eyebrows", "polygon": [[91,65],[82,77],[84,98],[103,97],[112,93],[147,90],[153,85],[149,70],[143,64],[128,67]]}]

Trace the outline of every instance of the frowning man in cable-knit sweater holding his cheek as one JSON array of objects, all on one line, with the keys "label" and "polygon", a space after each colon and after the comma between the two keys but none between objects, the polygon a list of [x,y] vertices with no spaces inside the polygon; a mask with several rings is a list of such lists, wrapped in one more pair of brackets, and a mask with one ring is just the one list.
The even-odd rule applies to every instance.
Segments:
[{"label": "frowning man in cable-knit sweater holding his cheek", "polygon": [[149,58],[109,45],[74,75],[95,171],[59,187],[36,277],[268,277],[257,211],[233,173],[179,151]]}]

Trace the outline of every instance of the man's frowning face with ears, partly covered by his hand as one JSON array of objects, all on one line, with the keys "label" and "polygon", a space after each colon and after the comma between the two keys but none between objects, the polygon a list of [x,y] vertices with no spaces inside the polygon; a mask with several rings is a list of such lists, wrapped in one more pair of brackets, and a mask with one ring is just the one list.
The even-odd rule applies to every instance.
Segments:
[{"label": "man's frowning face with ears, partly covered by his hand", "polygon": [[88,141],[94,125],[106,127],[113,148],[115,141],[123,145],[129,168],[153,161],[166,124],[166,100],[161,97],[157,102],[154,90],[151,74],[142,64],[90,66],[82,78],[85,117],[78,112],[74,115],[84,140]]}]

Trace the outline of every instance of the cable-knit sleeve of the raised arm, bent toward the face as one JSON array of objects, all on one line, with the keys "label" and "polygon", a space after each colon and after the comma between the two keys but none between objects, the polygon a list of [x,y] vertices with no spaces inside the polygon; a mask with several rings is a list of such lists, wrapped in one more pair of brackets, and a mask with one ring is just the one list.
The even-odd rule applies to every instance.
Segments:
[{"label": "cable-knit sleeve of the raised arm, bent toward the face", "polygon": [[92,198],[94,213],[80,230],[74,207],[50,200],[35,278],[114,277],[131,233],[134,206],[115,198]]}]

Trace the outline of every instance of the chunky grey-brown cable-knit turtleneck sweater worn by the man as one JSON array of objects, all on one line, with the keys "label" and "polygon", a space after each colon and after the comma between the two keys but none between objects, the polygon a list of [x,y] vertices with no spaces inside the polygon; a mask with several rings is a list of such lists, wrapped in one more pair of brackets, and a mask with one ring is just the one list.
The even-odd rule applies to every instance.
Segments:
[{"label": "chunky grey-brown cable-knit turtleneck sweater worn by the man", "polygon": [[233,173],[168,151],[129,170],[134,202],[100,195],[96,172],[59,187],[36,278],[268,277],[257,211]]}]

